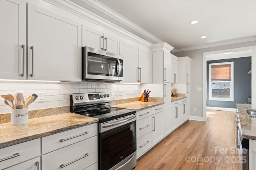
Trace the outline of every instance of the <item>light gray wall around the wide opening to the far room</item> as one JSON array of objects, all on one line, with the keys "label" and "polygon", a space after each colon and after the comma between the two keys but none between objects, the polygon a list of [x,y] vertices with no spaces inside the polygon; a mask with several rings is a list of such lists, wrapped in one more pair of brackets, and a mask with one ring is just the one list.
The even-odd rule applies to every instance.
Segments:
[{"label": "light gray wall around the wide opening to the far room", "polygon": [[[205,97],[203,96],[203,91],[196,91],[196,87],[203,87],[203,72],[206,72],[206,70],[203,70],[203,53],[210,52],[210,51],[240,48],[240,47],[249,47],[254,45],[256,45],[256,41],[248,41],[244,43],[236,43],[236,44],[230,44],[230,45],[222,45],[217,47],[210,47],[210,48],[174,53],[174,55],[176,55],[177,57],[188,56],[192,59],[191,83],[190,83],[191,84],[190,85],[190,88],[191,88],[190,113],[192,116],[203,117],[203,98],[206,98],[206,96]],[[252,56],[252,63],[255,61],[253,57],[256,58],[256,56],[254,55]],[[253,64],[252,64],[252,68],[253,68]],[[202,90],[205,90],[205,89],[202,89]],[[252,99],[252,102],[253,102],[253,99]],[[196,107],[196,111],[193,111],[193,109],[191,109],[193,107]]]}]

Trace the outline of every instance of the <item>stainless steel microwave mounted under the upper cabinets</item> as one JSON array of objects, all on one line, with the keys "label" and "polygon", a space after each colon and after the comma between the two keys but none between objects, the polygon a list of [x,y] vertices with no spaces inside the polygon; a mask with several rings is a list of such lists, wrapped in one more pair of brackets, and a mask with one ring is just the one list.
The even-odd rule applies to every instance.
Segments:
[{"label": "stainless steel microwave mounted under the upper cabinets", "polygon": [[82,47],[82,81],[120,82],[123,57],[103,50]]}]

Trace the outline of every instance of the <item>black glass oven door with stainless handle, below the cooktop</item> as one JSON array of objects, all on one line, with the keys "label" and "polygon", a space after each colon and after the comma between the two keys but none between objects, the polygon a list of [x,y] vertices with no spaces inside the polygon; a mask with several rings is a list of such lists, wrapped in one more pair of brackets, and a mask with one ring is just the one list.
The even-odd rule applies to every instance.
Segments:
[{"label": "black glass oven door with stainless handle, below the cooktop", "polygon": [[[135,152],[135,153],[134,153]],[[118,120],[100,123],[99,133],[99,168],[100,170],[129,169],[122,166],[131,164],[135,158],[136,165],[136,114]],[[131,156],[132,155],[132,156]],[[131,158],[128,158],[128,157]],[[119,167],[118,164],[120,164]]]}]

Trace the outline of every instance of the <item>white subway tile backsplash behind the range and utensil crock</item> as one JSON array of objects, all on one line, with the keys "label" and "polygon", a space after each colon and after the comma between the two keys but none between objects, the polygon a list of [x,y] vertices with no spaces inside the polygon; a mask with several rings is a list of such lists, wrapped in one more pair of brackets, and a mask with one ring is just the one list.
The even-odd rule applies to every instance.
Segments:
[{"label": "white subway tile backsplash behind the range and utensil crock", "polygon": [[[35,100],[29,110],[70,105],[70,94],[90,92],[110,92],[111,100],[141,96],[140,84],[114,84],[102,82],[0,82],[0,95],[22,92],[24,96],[44,92],[45,102]],[[10,113],[10,107],[0,97],[0,113]]]}]

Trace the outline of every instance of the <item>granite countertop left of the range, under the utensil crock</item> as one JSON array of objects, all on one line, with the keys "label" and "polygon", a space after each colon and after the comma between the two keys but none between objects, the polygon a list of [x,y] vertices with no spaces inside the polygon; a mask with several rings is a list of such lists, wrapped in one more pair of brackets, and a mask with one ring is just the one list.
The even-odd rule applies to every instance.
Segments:
[{"label": "granite countertop left of the range, under the utensil crock", "polygon": [[62,113],[28,119],[25,125],[13,126],[10,122],[0,124],[0,148],[52,135],[99,120],[75,113]]}]

